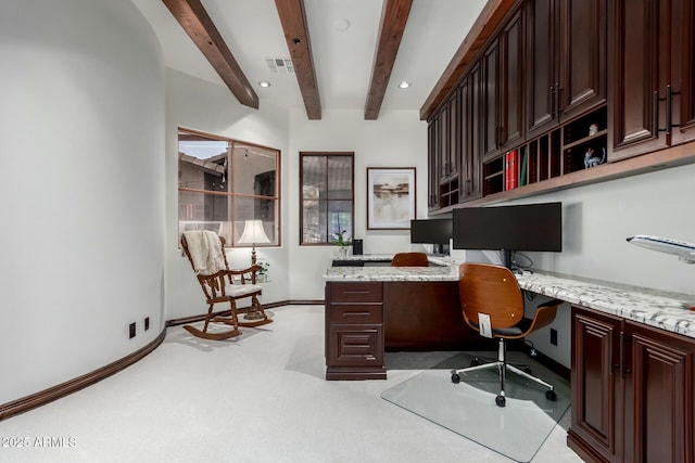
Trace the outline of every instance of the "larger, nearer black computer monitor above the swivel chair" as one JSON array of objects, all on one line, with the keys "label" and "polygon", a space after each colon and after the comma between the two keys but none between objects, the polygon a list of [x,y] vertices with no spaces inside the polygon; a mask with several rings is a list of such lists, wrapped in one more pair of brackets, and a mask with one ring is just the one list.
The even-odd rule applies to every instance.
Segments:
[{"label": "larger, nearer black computer monitor above the swivel chair", "polygon": [[463,207],[453,211],[454,249],[563,250],[563,204]]}]

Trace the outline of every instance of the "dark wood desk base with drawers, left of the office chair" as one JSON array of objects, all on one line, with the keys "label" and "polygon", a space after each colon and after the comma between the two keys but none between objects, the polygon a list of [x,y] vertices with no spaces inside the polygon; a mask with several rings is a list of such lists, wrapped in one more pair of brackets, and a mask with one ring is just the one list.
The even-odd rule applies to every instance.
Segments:
[{"label": "dark wood desk base with drawers, left of the office chair", "polygon": [[384,350],[495,348],[465,323],[458,281],[326,283],[326,380],[386,380]]}]

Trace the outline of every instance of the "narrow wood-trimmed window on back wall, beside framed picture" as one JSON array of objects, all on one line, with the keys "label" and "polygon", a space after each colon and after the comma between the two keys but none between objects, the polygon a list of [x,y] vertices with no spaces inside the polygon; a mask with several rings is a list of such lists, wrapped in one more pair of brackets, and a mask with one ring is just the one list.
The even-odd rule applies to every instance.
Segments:
[{"label": "narrow wood-trimmed window on back wall, beside framed picture", "polygon": [[300,153],[300,244],[352,239],[354,178],[354,153]]}]

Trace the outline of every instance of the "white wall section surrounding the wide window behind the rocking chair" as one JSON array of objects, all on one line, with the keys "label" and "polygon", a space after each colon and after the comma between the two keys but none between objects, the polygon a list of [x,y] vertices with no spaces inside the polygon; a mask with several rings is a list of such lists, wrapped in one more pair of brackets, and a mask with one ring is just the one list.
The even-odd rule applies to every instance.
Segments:
[{"label": "white wall section surrounding the wide window behind the rocking chair", "polygon": [[[178,248],[178,136],[179,127],[280,150],[282,246],[257,247],[258,259],[270,263],[271,282],[263,286],[263,301],[288,300],[288,202],[291,201],[288,167],[289,117],[286,110],[261,102],[258,111],[242,106],[227,87],[166,69],[166,318],[199,316],[207,311],[203,294],[188,259]],[[295,200],[294,200],[295,201]],[[227,250],[229,265],[251,265],[251,248]],[[240,307],[243,307],[241,304]],[[216,308],[222,310],[222,308]]]}]

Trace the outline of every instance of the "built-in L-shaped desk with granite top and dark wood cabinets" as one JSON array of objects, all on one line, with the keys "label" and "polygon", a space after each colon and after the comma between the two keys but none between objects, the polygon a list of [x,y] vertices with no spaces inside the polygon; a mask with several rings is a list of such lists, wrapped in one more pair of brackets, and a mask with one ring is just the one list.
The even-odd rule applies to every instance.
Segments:
[{"label": "built-in L-shaped desk with granite top and dark wood cabinets", "polygon": [[[389,346],[466,350],[480,339],[463,327],[458,266],[336,267],[324,278],[327,380],[386,378]],[[569,447],[585,461],[695,461],[695,295],[548,272],[517,280],[571,305]]]}]

